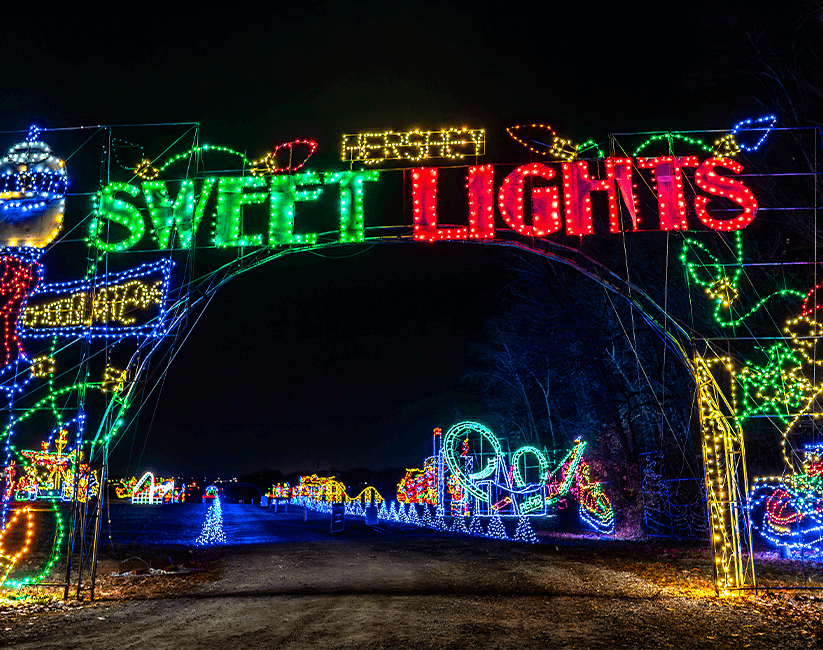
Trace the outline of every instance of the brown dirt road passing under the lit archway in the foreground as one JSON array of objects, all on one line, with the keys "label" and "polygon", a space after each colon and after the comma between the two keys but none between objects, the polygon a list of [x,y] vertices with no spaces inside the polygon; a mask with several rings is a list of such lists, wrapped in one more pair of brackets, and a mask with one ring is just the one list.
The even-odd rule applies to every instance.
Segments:
[{"label": "brown dirt road passing under the lit archway in the foreground", "polygon": [[331,536],[326,525],[289,522],[284,528],[311,530],[309,539],[288,541],[286,532],[283,543],[227,549],[222,579],[192,593],[43,615],[0,640],[21,650],[817,644],[814,617],[800,623],[754,600],[709,596],[706,567],[694,581],[682,576],[699,567],[678,565],[681,586],[672,588],[644,578],[648,562],[625,550],[610,556],[411,527],[381,533],[362,523]]}]

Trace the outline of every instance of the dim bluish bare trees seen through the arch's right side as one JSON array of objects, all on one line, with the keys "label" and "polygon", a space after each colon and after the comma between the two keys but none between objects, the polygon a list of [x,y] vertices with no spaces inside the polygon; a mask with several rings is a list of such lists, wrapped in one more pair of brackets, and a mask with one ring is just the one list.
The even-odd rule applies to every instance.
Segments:
[{"label": "dim bluish bare trees seen through the arch's right side", "polygon": [[624,529],[642,516],[641,456],[669,451],[699,472],[685,369],[620,296],[537,255],[509,256],[501,310],[472,348],[465,381],[512,446],[589,445]]}]

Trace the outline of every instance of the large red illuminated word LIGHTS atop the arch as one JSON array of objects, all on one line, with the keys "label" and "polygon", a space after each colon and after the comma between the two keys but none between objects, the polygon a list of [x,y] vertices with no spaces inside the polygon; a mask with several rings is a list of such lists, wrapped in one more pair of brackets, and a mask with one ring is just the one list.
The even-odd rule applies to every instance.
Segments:
[{"label": "large red illuminated word LIGHTS atop the arch", "polygon": [[[618,190],[631,218],[631,230],[640,230],[632,168],[650,169],[657,196],[660,230],[686,230],[687,205],[683,191],[683,168],[697,167],[695,184],[704,192],[724,197],[737,203],[743,212],[732,219],[715,219],[706,211],[710,197],[697,196],[694,209],[703,224],[714,230],[739,230],[757,213],[757,201],[751,191],[739,180],[720,176],[714,170],[723,167],[736,174],[743,166],[726,158],[710,158],[702,164],[696,156],[676,158],[606,158],[606,178],[592,178],[589,162],[579,160],[563,163],[563,198],[565,203],[566,234],[583,236],[594,233],[592,192],[606,192],[609,206],[609,230],[622,232]],[[699,166],[698,166],[699,165]],[[494,230],[494,168],[492,165],[468,168],[469,225],[438,226],[437,224],[437,167],[420,167],[412,172],[412,203],[414,210],[414,238],[419,241],[448,239],[493,239]],[[592,174],[593,175],[593,174]],[[515,168],[503,179],[497,194],[500,216],[516,232],[527,237],[544,237],[560,231],[559,189],[556,185],[531,188],[531,225],[527,223],[526,181],[532,176],[551,181],[557,176],[554,168],[545,163],[529,163]],[[628,226],[628,224],[626,224]]]}]

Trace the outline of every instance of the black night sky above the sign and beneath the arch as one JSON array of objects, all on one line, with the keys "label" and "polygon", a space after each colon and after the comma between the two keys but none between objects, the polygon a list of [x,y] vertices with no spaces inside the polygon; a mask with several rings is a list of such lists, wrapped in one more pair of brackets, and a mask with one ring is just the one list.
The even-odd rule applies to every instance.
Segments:
[{"label": "black night sky above the sign and beneath the arch", "polygon": [[[313,138],[309,166],[323,170],[339,164],[343,133],[371,129],[485,128],[491,162],[518,154],[511,124],[547,122],[581,142],[755,113],[746,80],[717,73],[731,28],[700,5],[389,5],[141,6],[52,16],[37,38],[7,21],[3,130],[196,121],[202,142],[253,157]],[[115,473],[413,466],[433,427],[488,417],[459,379],[499,303],[504,254],[327,255],[288,257],[217,294],[117,445]]]}]

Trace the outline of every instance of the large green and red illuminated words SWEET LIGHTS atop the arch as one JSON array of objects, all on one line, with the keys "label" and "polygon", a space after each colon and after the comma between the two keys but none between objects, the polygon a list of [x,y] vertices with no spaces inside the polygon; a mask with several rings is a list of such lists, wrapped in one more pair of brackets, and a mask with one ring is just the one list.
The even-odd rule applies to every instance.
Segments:
[{"label": "large green and red illuminated words SWEET LIGHTS atop the arch", "polygon": [[[611,233],[687,230],[689,208],[696,221],[714,230],[745,228],[757,214],[754,195],[743,181],[734,178],[743,171],[743,166],[728,158],[712,157],[702,162],[696,156],[606,158],[559,166],[530,163],[506,174],[495,193],[497,168],[494,165],[468,167],[468,224],[465,227],[439,223],[439,168],[412,168],[410,200],[414,238],[420,241],[494,239],[495,207],[501,222],[522,235],[593,235],[596,230],[592,203],[599,200],[598,197],[606,200],[608,232]],[[706,193],[692,197],[690,204],[684,192],[685,169],[694,170],[697,187]],[[640,170],[651,173],[657,214],[644,214],[637,207],[633,174],[637,175]],[[110,183],[100,192],[96,216],[91,221],[89,245],[104,252],[127,251],[144,247],[150,235],[156,243],[149,245],[151,248],[190,248],[212,202],[211,246],[313,245],[317,243],[316,233],[295,234],[295,213],[298,203],[316,201],[323,192],[334,192],[339,201],[339,242],[361,242],[365,240],[368,216],[364,213],[363,193],[367,184],[378,182],[379,173],[373,170],[207,178],[197,184],[184,181],[176,194],[169,191],[169,183],[163,180],[145,181],[140,185]],[[721,218],[709,210],[713,197],[722,197],[736,204],[739,210],[732,215],[726,215],[724,210]],[[247,206],[257,205],[268,208],[268,218],[266,226],[255,232],[244,220],[244,211]],[[621,205],[630,217],[628,223],[621,219]],[[527,224],[527,220],[532,223]]]}]

